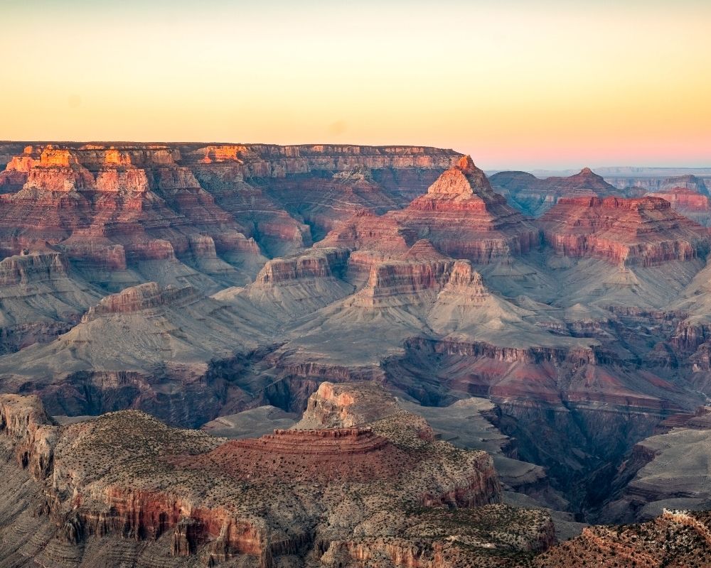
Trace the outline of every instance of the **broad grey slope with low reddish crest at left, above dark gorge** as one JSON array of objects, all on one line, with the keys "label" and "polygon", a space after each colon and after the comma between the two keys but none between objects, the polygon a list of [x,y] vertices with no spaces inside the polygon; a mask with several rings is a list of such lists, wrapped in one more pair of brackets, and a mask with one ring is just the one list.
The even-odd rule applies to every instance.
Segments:
[{"label": "broad grey slope with low reddish crest at left, above dark gorge", "polygon": [[31,391],[58,415],[142,408],[200,425],[227,398],[262,334],[228,305],[193,288],[146,283],[109,295],[46,345],[0,361],[5,392]]}]

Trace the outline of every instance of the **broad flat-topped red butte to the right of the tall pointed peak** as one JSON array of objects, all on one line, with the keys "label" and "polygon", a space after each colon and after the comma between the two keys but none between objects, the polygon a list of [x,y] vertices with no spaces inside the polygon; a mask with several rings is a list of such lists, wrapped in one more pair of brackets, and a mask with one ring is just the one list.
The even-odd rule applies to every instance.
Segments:
[{"label": "broad flat-topped red butte to the right of the tall pointed peak", "polygon": [[547,244],[559,254],[653,266],[708,251],[707,230],[655,197],[564,198],[541,217]]}]

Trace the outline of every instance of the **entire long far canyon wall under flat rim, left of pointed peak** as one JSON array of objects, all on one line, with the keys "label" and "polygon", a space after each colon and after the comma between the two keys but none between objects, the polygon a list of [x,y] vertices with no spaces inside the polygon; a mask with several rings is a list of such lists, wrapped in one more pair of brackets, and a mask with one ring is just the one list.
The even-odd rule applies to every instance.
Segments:
[{"label": "entire long far canyon wall under flat rim, left of pointed peak", "polygon": [[[322,234],[358,209],[398,207],[397,190],[374,172],[436,176],[457,156],[409,147],[33,144],[0,174],[0,249],[56,244],[102,285],[127,268],[136,283],[141,263],[164,261],[161,272],[196,270],[215,291],[253,278],[262,253],[309,246],[304,220]],[[213,241],[208,253],[196,239]]]}]

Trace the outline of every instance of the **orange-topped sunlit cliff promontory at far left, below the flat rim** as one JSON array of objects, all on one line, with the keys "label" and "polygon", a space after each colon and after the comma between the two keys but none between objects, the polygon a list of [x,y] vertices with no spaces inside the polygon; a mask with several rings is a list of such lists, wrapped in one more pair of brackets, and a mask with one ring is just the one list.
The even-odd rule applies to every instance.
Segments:
[{"label": "orange-topped sunlit cliff promontory at far left, below the flat rim", "polygon": [[[3,196],[6,251],[57,245],[97,282],[143,261],[166,261],[176,270],[178,258],[208,277],[237,282],[263,258],[190,170],[176,164],[177,150],[49,145],[35,159],[29,149],[18,160],[27,164],[26,183]],[[191,247],[198,236],[211,239],[235,267]]]}]

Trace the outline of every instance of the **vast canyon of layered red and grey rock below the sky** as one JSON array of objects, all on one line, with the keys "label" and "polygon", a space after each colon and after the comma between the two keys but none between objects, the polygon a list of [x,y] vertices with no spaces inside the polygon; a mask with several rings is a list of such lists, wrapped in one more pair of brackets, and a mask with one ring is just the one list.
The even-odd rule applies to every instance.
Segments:
[{"label": "vast canyon of layered red and grey rock below the sky", "polygon": [[711,508],[702,177],[488,177],[419,146],[0,158],[0,566],[708,554],[706,513],[669,513]]}]

